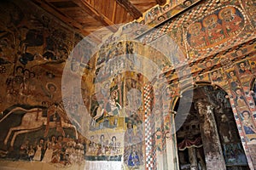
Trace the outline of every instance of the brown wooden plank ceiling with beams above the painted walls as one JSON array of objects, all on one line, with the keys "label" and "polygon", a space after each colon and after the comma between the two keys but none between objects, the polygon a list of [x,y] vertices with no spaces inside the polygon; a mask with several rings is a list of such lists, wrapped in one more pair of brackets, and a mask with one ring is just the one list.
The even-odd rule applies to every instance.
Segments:
[{"label": "brown wooden plank ceiling with beams above the painted walls", "polygon": [[[82,35],[102,28],[96,38],[118,30],[117,24],[127,23],[166,0],[32,0],[39,7],[73,27]],[[107,26],[107,27],[106,27]]]}]

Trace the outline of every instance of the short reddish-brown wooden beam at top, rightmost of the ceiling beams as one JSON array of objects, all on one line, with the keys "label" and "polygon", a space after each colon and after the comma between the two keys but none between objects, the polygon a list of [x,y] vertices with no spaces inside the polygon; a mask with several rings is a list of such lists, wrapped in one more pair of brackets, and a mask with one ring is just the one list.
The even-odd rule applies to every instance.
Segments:
[{"label": "short reddish-brown wooden beam at top, rightmost of the ceiling beams", "polygon": [[130,1],[128,0],[116,0],[119,5],[121,5],[125,10],[131,14],[134,19],[138,19],[143,16],[141,11],[139,11]]}]

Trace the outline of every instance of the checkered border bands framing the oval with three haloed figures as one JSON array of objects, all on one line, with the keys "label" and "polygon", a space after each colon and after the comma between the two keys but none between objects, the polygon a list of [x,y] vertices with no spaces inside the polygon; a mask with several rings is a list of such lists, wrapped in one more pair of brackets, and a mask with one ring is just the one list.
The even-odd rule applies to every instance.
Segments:
[{"label": "checkered border bands framing the oval with three haloed figures", "polygon": [[[201,5],[198,5],[197,7],[193,8],[193,10],[190,10],[186,12],[185,14],[182,14],[178,16],[174,20],[170,20],[166,22],[163,26],[160,26],[158,28],[155,28],[152,31],[148,31],[148,33],[140,39],[143,43],[149,43],[153,42],[157,38],[162,37],[163,35],[166,35],[167,33],[173,32],[175,29],[177,29],[180,26],[189,26],[189,24],[192,23],[194,20],[200,20],[204,16],[209,14],[209,11],[216,11],[218,9],[224,8],[225,5],[224,3],[217,3],[218,0],[212,0],[212,1],[206,1],[205,3],[202,3]],[[247,17],[246,14],[243,12],[243,10],[237,6],[234,6],[237,9],[241,11],[241,14],[243,14],[243,19],[244,19],[244,26],[247,26]],[[189,22],[188,22],[189,21]],[[220,51],[223,51],[224,49],[227,48],[232,48],[238,44],[241,44],[242,42],[245,42],[248,40],[248,38],[253,39],[256,36],[253,36],[253,34],[248,33],[243,31],[241,29],[241,33],[235,37],[230,37],[229,41],[223,42],[221,44],[216,45],[215,47],[212,48],[205,48],[205,49],[195,49],[191,48],[189,46],[188,40],[185,37],[184,42],[187,43],[187,54],[189,54],[189,51],[197,51],[198,53],[190,54],[189,56],[189,62],[194,62],[197,59],[202,59],[205,56],[209,56],[212,54],[216,54]],[[185,29],[186,31],[186,29]],[[176,37],[173,37],[174,39]]]}]

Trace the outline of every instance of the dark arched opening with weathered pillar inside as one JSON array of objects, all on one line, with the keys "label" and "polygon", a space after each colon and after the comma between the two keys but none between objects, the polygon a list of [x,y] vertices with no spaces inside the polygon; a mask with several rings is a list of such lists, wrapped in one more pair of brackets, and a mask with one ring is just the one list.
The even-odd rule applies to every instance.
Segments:
[{"label": "dark arched opening with weathered pillar inside", "polygon": [[[199,85],[193,91],[192,105],[183,126],[177,129],[180,169],[249,169],[229,99],[223,89]],[[180,107],[180,106],[179,106]]]}]

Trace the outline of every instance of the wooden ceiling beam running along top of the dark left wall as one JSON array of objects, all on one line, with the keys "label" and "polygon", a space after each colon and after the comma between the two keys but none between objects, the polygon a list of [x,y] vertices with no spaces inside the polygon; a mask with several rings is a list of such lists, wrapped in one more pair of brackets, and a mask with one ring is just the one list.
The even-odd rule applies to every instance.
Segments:
[{"label": "wooden ceiling beam running along top of the dark left wall", "polygon": [[[36,5],[38,5],[39,7],[44,8],[45,11],[47,11],[49,14],[53,14],[55,17],[57,17],[62,22],[73,27],[73,29],[75,31],[78,31],[82,35],[84,35],[84,36],[90,35],[91,32],[85,31],[83,26],[80,25],[77,21],[67,17],[65,14],[61,14],[61,12],[59,12],[57,8],[52,7],[48,3],[45,3],[44,0],[32,0],[32,2],[35,3]],[[102,42],[102,40],[100,40],[98,37],[91,36],[91,35],[90,35],[90,37],[93,38],[94,40],[96,40],[96,42]]]}]

